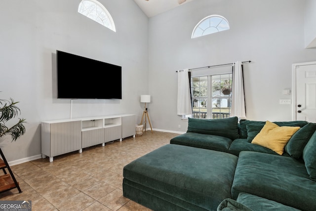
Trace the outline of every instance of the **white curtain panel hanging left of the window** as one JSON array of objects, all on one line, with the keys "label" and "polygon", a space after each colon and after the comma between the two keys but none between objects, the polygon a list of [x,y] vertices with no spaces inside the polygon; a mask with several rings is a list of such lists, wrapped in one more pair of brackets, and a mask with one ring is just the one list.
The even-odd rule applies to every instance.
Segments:
[{"label": "white curtain panel hanging left of the window", "polygon": [[178,115],[192,114],[190,83],[188,76],[189,69],[178,71]]}]

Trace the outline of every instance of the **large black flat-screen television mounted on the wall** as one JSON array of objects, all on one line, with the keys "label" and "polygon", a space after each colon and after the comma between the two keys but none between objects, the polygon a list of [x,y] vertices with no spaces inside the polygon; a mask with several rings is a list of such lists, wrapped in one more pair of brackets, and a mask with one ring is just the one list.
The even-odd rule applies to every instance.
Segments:
[{"label": "large black flat-screen television mounted on the wall", "polygon": [[122,99],[121,66],[57,50],[57,98]]}]

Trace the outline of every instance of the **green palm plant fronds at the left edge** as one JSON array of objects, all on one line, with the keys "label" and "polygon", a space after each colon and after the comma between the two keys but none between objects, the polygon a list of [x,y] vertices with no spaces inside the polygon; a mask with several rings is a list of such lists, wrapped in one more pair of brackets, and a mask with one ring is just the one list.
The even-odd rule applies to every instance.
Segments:
[{"label": "green palm plant fronds at the left edge", "polygon": [[25,133],[24,123],[25,119],[20,119],[13,126],[6,126],[6,123],[11,119],[21,114],[20,109],[16,106],[19,102],[14,102],[12,98],[9,100],[0,99],[0,142],[4,136],[11,135],[12,141],[16,141],[21,135]]}]

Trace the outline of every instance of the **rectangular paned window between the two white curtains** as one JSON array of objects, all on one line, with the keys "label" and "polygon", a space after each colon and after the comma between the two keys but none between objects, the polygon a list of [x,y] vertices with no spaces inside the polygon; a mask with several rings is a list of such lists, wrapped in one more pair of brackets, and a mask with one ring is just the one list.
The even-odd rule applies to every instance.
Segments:
[{"label": "rectangular paned window between the two white curtains", "polygon": [[191,78],[192,118],[229,118],[232,104],[232,74]]}]

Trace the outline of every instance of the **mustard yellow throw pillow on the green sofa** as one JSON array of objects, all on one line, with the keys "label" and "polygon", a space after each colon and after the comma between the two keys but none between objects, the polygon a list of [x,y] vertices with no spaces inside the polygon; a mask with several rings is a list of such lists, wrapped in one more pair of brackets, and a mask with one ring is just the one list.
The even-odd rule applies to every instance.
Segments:
[{"label": "mustard yellow throw pillow on the green sofa", "polygon": [[252,144],[269,148],[277,154],[282,155],[285,144],[300,127],[289,127],[278,125],[267,121],[265,126],[251,141]]}]

